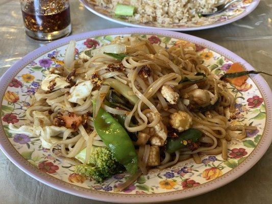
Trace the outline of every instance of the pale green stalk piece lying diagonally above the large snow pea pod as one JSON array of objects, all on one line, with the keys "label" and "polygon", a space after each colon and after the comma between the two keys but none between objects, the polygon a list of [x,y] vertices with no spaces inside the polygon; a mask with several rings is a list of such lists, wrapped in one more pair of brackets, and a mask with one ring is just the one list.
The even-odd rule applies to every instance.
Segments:
[{"label": "pale green stalk piece lying diagonally above the large snow pea pod", "polygon": [[129,95],[129,92],[132,92],[132,89],[129,86],[121,83],[120,81],[116,79],[108,78],[104,80],[104,84],[111,86],[118,93],[125,96],[132,105],[135,105],[137,101],[139,100],[139,98],[136,95]]}]

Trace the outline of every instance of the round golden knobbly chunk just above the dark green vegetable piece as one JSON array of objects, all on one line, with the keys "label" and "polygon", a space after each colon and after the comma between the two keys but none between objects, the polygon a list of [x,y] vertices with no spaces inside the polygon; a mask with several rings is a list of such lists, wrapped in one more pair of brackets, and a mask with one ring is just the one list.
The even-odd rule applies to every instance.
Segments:
[{"label": "round golden knobbly chunk just above the dark green vegetable piece", "polygon": [[190,128],[193,123],[192,120],[192,117],[188,113],[179,111],[170,115],[169,123],[173,128],[177,129],[179,132],[182,132]]}]

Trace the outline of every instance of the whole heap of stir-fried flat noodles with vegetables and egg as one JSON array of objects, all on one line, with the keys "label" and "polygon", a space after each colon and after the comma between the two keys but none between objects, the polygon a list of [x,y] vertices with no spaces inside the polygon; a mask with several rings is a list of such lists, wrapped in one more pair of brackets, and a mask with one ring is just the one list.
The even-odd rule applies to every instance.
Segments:
[{"label": "whole heap of stir-fried flat noodles with vegetables and egg", "polygon": [[101,183],[127,171],[131,185],[149,169],[164,169],[202,155],[227,159],[228,141],[254,126],[230,125],[235,101],[226,83],[203,65],[195,44],[170,48],[139,36],[116,37],[64,66],[45,72],[30,125],[10,132],[35,135],[52,156]]}]

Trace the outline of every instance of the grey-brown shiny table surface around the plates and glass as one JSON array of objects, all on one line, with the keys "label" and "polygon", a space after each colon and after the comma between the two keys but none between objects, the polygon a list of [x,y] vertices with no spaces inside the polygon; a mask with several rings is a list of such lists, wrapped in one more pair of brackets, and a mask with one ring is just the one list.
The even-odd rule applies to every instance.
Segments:
[{"label": "grey-brown shiny table surface around the plates and glass", "polygon": [[[72,34],[123,27],[95,16],[70,1]],[[45,44],[26,36],[18,0],[0,0],[0,76],[21,57]],[[250,15],[234,23],[186,32],[224,46],[257,70],[271,73],[272,0],[262,0]],[[272,80],[263,76],[270,88]],[[272,147],[248,172],[234,182],[197,197],[169,203],[271,203]],[[0,203],[106,203],[73,196],[48,187],[12,164],[0,151]]]}]

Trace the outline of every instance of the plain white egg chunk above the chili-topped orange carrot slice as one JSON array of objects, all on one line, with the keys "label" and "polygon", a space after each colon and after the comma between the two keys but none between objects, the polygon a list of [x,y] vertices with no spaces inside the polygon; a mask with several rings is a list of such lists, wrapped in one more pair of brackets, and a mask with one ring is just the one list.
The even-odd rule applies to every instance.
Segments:
[{"label": "plain white egg chunk above the chili-topped orange carrot slice", "polygon": [[82,105],[84,99],[91,94],[93,85],[91,81],[83,81],[70,88],[68,101]]}]

